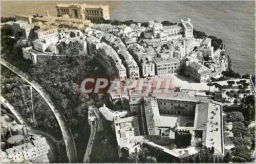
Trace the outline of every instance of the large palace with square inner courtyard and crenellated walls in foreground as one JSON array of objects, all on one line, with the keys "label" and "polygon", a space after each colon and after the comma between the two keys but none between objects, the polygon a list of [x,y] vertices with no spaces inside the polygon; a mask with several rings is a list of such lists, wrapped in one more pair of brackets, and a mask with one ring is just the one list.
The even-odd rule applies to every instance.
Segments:
[{"label": "large palace with square inner courtyard and crenellated walls in foreground", "polygon": [[[131,154],[134,148],[140,147],[139,143],[144,143],[168,154],[175,161],[182,162],[185,157],[206,148],[214,151],[211,156],[213,162],[223,160],[221,103],[197,96],[196,90],[175,87],[168,93],[153,90],[147,94],[142,90],[130,90],[129,104],[130,112],[136,116],[114,119],[119,157],[125,153],[124,150]],[[190,146],[168,149],[180,132],[191,134]]]}]

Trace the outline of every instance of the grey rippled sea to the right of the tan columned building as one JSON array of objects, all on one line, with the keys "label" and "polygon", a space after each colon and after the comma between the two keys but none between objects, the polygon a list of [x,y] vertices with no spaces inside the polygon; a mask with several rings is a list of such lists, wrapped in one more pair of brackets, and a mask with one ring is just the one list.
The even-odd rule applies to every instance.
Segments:
[{"label": "grey rippled sea to the right of the tan columned building", "polygon": [[196,30],[221,38],[227,47],[233,70],[255,74],[254,2],[123,2],[111,19],[134,21],[190,18]]}]

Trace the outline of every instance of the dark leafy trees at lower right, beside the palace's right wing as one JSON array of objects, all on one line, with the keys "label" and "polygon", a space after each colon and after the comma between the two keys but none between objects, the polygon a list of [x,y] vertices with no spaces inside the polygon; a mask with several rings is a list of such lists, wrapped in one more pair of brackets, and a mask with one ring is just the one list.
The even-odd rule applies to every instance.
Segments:
[{"label": "dark leafy trees at lower right, beside the palace's right wing", "polygon": [[225,162],[250,162],[251,152],[255,149],[255,128],[248,128],[250,121],[255,119],[254,95],[244,97],[240,105],[224,106],[224,111],[229,112],[227,119],[233,123],[234,137],[231,139],[235,146],[231,154],[226,154]]}]

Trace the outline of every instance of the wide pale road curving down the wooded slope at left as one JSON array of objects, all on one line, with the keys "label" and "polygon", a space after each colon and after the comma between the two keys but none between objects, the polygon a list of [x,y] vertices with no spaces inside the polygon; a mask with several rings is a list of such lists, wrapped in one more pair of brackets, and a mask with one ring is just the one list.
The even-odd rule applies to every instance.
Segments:
[{"label": "wide pale road curving down the wooded slope at left", "polygon": [[35,80],[33,80],[29,75],[26,73],[23,73],[19,71],[18,68],[11,65],[4,59],[1,60],[1,64],[9,68],[12,72],[16,73],[19,77],[26,80],[40,95],[41,97],[46,101],[46,103],[51,108],[52,112],[54,113],[58,124],[60,126],[63,139],[65,141],[66,150],[67,150],[67,156],[69,158],[69,162],[77,162],[77,152],[75,147],[74,138],[72,135],[72,132],[70,130],[69,124],[67,123],[67,120],[65,116],[63,115],[62,111],[58,108],[52,97],[49,95],[49,93],[43,89]]}]

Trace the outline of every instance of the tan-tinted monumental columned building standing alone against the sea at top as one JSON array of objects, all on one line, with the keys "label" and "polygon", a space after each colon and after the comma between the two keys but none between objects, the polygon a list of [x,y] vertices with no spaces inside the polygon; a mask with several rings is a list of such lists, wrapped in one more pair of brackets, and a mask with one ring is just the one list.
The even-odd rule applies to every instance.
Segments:
[{"label": "tan-tinted monumental columned building standing alone against the sea at top", "polygon": [[69,15],[70,18],[96,20],[110,19],[109,5],[58,4],[55,6],[57,16]]}]

